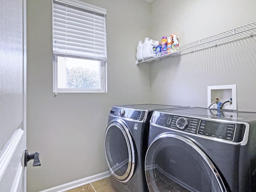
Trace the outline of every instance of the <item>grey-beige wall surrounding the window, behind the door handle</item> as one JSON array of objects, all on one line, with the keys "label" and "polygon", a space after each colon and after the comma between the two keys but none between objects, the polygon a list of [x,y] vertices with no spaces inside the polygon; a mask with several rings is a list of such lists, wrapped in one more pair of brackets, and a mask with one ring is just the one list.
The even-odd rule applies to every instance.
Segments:
[{"label": "grey-beige wall surrounding the window, behind the door handle", "polygon": [[108,93],[52,91],[52,0],[27,0],[27,147],[42,166],[27,167],[36,192],[108,170],[104,134],[112,105],[150,100],[150,65],[135,65],[136,46],[150,31],[144,0],[83,0],[107,9]]}]

